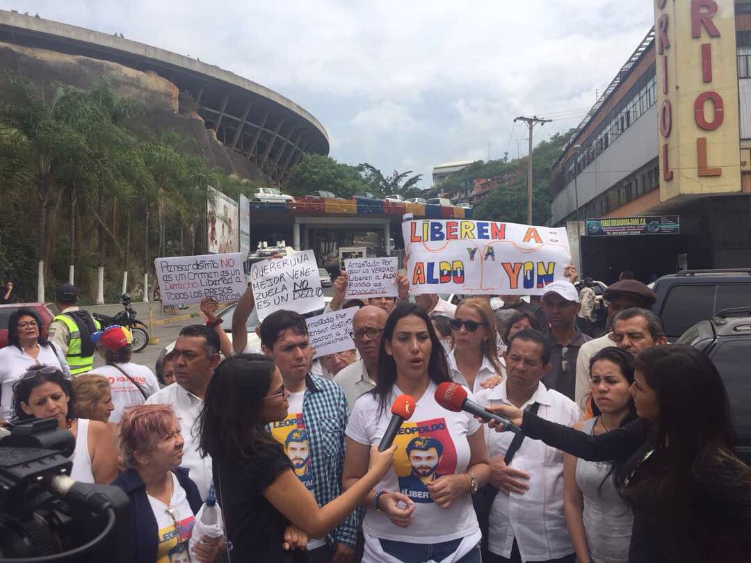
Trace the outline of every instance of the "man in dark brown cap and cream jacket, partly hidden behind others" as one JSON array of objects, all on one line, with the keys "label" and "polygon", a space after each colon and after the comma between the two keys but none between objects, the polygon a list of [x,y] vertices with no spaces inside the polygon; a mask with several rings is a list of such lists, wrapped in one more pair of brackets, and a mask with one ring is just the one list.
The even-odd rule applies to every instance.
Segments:
[{"label": "man in dark brown cap and cream jacket, partly hidden behind others", "polygon": [[651,309],[657,296],[654,291],[647,288],[641,281],[623,279],[608,286],[602,298],[608,302],[608,333],[590,342],[586,342],[579,350],[576,363],[576,390],[574,396],[574,401],[579,406],[583,406],[584,398],[590,392],[590,358],[601,351],[602,348],[615,346],[612,338],[613,333],[610,331],[614,326],[616,315],[621,311],[635,307]]}]

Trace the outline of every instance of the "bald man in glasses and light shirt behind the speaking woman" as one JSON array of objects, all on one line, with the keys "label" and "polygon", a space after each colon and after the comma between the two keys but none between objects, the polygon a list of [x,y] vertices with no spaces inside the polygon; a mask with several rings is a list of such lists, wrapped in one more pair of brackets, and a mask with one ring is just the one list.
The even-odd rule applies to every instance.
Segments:
[{"label": "bald man in glasses and light shirt behind the speaking woman", "polygon": [[360,352],[360,360],[342,369],[333,381],[342,386],[351,411],[357,397],[375,387],[378,381],[378,356],[381,335],[388,315],[380,307],[366,305],[352,318],[351,337]]}]

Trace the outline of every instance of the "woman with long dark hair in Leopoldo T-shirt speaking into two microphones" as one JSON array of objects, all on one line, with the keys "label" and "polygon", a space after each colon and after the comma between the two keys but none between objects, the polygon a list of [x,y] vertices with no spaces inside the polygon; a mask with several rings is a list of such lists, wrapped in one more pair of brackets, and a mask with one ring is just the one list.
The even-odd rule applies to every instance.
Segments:
[{"label": "woman with long dark hair in Leopoldo T-shirt speaking into two microphones", "polygon": [[397,396],[416,401],[394,439],[394,465],[363,501],[363,563],[481,561],[472,493],[490,476],[487,448],[471,414],[436,402],[445,381],[451,376],[430,318],[410,303],[397,306],[381,340],[378,384],[354,403],[346,431],[345,489],[368,471]]}]

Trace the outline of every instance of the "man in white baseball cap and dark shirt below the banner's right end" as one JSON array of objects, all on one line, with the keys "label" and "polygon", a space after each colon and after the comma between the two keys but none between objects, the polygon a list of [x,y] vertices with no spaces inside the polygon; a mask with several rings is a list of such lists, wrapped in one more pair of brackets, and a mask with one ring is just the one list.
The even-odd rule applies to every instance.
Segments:
[{"label": "man in white baseball cap and dark shirt below the banner's right end", "polygon": [[550,323],[550,371],[542,378],[548,389],[574,399],[579,348],[591,340],[576,326],[579,292],[570,281],[553,281],[544,289],[542,310]]}]

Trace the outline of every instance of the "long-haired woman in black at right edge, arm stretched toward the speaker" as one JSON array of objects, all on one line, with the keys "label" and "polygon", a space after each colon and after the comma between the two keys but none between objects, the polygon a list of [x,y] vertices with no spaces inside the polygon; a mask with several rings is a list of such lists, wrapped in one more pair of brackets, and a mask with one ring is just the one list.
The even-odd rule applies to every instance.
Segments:
[{"label": "long-haired woman in black at right edge, arm stretched toward the speaker", "polygon": [[751,469],[733,454],[730,405],[715,366],[689,346],[656,346],[637,358],[634,380],[639,418],[601,435],[514,406],[488,410],[529,438],[613,464],[634,511],[632,563],[751,561]]}]

